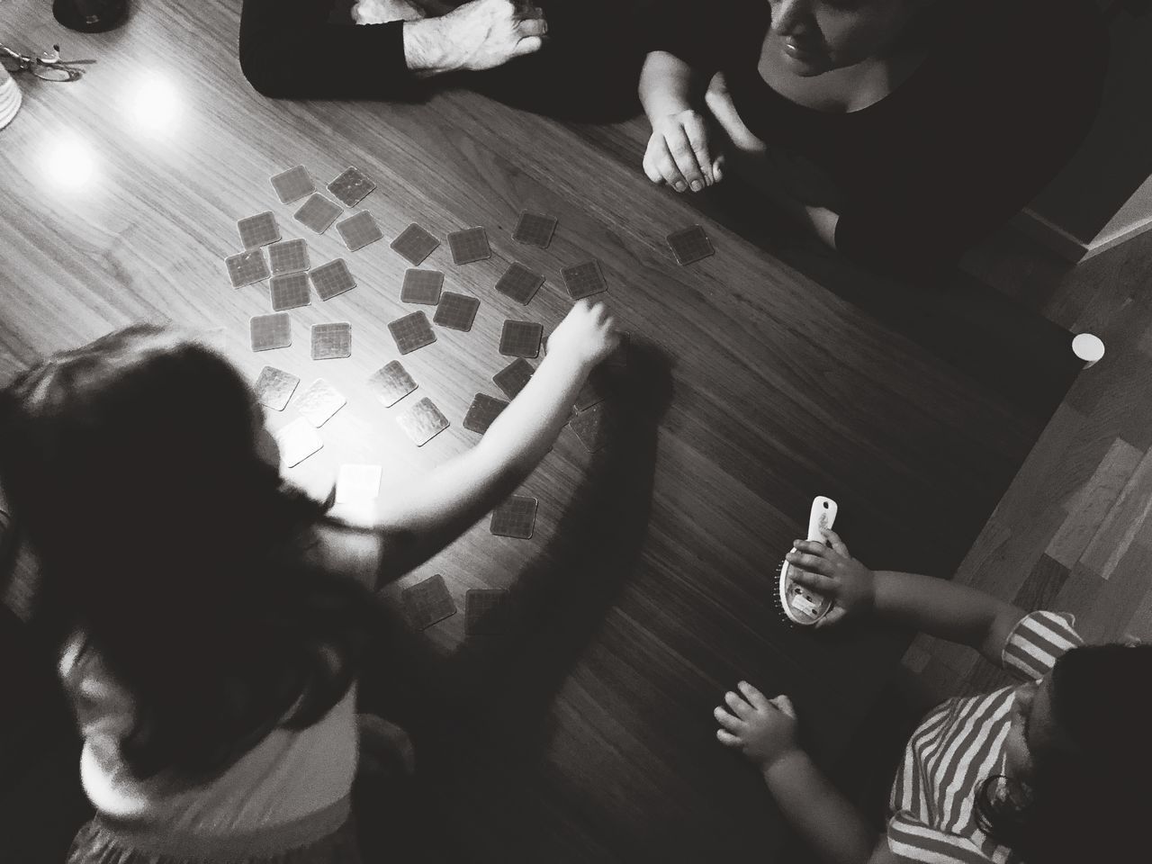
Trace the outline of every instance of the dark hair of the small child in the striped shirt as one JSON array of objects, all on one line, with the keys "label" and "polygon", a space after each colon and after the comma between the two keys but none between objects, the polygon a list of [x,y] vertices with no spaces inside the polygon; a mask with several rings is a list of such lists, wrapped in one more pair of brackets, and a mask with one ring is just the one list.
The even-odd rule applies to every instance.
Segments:
[{"label": "dark hair of the small child in the striped shirt", "polygon": [[1052,670],[1052,717],[1071,748],[1032,752],[1026,783],[986,780],[975,811],[982,831],[1026,864],[1146,857],[1152,645],[1069,651]]}]

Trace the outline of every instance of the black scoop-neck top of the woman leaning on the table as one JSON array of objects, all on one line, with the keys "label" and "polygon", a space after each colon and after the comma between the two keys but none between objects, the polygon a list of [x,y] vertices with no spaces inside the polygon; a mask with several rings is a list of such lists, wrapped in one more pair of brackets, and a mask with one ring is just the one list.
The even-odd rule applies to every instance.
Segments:
[{"label": "black scoop-neck top of the woman leaning on the table", "polygon": [[836,249],[896,272],[956,258],[1055,176],[1099,107],[1106,30],[1086,0],[953,0],[927,58],[849,113],[786,99],[760,77],[765,0],[677,0],[651,43],[723,71],[748,128],[803,156],[841,194]]}]

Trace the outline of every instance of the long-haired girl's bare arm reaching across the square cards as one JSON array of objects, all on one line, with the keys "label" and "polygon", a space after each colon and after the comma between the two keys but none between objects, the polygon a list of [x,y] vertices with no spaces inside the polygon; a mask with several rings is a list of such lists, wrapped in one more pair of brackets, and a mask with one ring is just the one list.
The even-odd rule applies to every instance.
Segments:
[{"label": "long-haired girl's bare arm reaching across the square cards", "polygon": [[589,372],[616,347],[602,304],[577,303],[548,338],[548,353],[480,442],[381,498],[376,584],[409,573],[460,537],[532,472],[567,423]]}]

